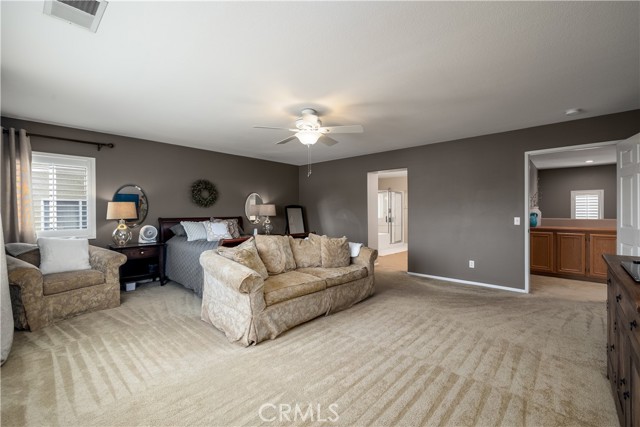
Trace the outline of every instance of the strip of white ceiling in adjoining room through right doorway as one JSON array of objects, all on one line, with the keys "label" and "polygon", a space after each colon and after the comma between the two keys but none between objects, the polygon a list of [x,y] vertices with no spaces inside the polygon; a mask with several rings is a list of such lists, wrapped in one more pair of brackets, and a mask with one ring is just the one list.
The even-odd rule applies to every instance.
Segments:
[{"label": "strip of white ceiling in adjoining room through right doorway", "polygon": [[610,165],[616,163],[616,146],[615,144],[609,144],[576,148],[554,153],[536,154],[529,156],[529,159],[538,169]]}]

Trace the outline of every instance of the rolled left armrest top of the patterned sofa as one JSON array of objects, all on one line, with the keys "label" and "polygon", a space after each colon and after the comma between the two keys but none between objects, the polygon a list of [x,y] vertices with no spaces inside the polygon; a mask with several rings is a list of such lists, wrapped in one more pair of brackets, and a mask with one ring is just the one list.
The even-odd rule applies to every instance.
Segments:
[{"label": "rolled left armrest top of the patterned sofa", "polygon": [[251,294],[264,286],[264,280],[254,270],[218,255],[213,250],[204,251],[200,255],[200,265],[205,274],[236,292]]}]

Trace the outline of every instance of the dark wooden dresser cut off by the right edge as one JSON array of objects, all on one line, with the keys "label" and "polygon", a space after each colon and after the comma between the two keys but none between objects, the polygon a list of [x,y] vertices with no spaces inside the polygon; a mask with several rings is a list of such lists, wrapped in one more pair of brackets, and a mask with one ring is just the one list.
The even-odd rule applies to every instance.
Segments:
[{"label": "dark wooden dresser cut off by the right edge", "polygon": [[637,257],[605,255],[607,376],[622,426],[640,426],[640,284],[620,265]]}]

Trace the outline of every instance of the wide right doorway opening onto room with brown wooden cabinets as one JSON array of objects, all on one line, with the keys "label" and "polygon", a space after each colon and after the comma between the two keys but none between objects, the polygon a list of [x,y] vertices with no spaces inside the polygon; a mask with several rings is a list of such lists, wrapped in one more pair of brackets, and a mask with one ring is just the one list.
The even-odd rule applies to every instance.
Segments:
[{"label": "wide right doorway opening onto room with brown wooden cabinets", "polygon": [[[604,265],[601,257],[586,255],[596,253],[593,250],[595,246],[589,246],[590,242],[599,249],[611,246],[612,242],[615,246],[618,142],[525,153],[525,292],[531,292],[532,284],[538,289],[540,283],[549,280],[555,283],[572,279],[578,284],[587,285],[589,282],[586,281],[590,281],[597,285],[593,282],[606,279],[599,277]],[[598,168],[600,171],[596,172]],[[589,188],[578,188],[580,185]],[[606,187],[604,193],[600,190],[602,186]],[[589,198],[588,206],[583,207],[582,198],[585,197],[579,193],[587,192],[594,193],[594,198]],[[592,209],[597,194],[604,194],[604,197],[599,198],[594,205],[596,209]],[[589,239],[592,228],[601,230],[595,236],[599,239],[597,244],[596,240]]]}]

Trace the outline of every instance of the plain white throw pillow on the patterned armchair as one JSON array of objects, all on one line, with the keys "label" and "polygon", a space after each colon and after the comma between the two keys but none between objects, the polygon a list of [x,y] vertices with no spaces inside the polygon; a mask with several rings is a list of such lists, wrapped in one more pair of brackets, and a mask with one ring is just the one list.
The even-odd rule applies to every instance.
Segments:
[{"label": "plain white throw pillow on the patterned armchair", "polygon": [[91,269],[87,239],[41,237],[38,247],[42,274]]}]

